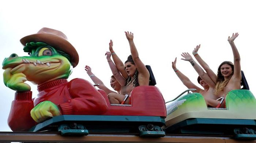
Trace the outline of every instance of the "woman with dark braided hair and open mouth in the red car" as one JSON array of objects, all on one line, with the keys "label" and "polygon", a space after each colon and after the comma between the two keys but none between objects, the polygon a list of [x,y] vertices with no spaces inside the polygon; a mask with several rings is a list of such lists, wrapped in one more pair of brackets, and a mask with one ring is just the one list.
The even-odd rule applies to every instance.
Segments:
[{"label": "woman with dark braided hair and open mouth in the red car", "polygon": [[[128,57],[127,61],[125,61],[124,68],[123,68],[125,69],[125,72],[127,73],[128,78],[126,78],[125,86],[121,87],[120,94],[110,93],[108,95],[109,102],[111,104],[129,104],[131,102],[130,98],[128,98],[128,100],[125,100],[125,99],[131,94],[131,91],[133,90],[133,88],[137,86],[148,86],[149,84],[150,75],[146,66],[142,63],[142,61],[139,58],[138,51],[133,42],[133,33],[127,31],[125,32],[125,35],[129,42],[130,50],[132,54]],[[114,52],[111,50],[110,52],[113,55]],[[113,60],[114,60],[114,56],[113,56]],[[114,62],[116,63],[116,61]]]}]

